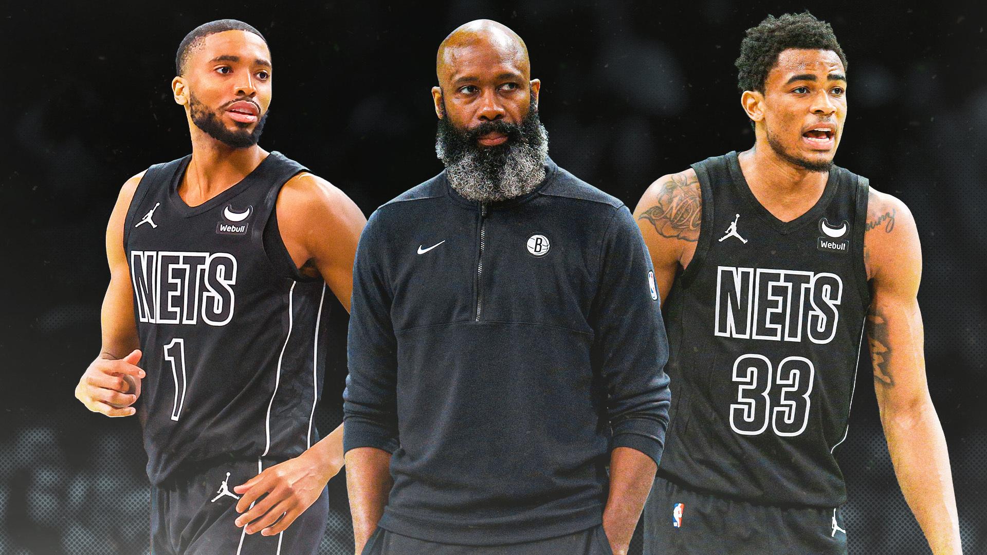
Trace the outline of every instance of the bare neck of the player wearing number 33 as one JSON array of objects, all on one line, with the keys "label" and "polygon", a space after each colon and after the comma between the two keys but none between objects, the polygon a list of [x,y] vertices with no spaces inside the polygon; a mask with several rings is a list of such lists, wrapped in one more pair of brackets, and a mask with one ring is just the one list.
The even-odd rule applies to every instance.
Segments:
[{"label": "bare neck of the player wearing number 33", "polygon": [[828,172],[811,172],[780,157],[767,140],[758,140],[738,159],[754,198],[784,221],[811,208],[829,181]]}]

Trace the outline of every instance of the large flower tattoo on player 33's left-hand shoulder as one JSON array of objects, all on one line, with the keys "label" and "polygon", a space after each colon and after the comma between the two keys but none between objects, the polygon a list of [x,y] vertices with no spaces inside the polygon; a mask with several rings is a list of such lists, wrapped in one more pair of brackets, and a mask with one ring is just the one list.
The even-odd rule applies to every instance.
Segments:
[{"label": "large flower tattoo on player 33's left-hand shoulder", "polygon": [[638,219],[646,219],[662,237],[696,242],[703,219],[699,179],[673,175],[661,184],[657,202]]}]

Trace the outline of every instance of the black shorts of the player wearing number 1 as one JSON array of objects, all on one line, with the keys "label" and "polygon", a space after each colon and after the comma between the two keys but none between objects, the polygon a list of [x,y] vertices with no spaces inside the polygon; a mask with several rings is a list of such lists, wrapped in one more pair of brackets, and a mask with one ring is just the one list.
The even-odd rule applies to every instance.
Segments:
[{"label": "black shorts of the player wearing number 1", "polygon": [[[264,467],[273,464],[265,462]],[[151,554],[315,555],[329,515],[326,490],[280,534],[248,535],[234,524],[240,514],[236,510],[238,500],[230,494],[237,495],[234,486],[257,474],[257,460],[239,461],[171,480],[161,487],[152,486]]]}]

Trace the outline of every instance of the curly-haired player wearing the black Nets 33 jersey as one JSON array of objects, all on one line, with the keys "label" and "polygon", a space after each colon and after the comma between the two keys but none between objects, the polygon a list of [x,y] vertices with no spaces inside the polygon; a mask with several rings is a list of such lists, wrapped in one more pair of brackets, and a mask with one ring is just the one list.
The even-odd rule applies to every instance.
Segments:
[{"label": "curly-haired player wearing the black Nets 33 jersey", "polygon": [[675,389],[645,553],[845,553],[833,449],[865,327],[898,482],[933,551],[959,553],[949,454],[926,384],[915,220],[833,165],[846,56],[810,14],[741,45],[740,154],[654,182],[635,217]]}]

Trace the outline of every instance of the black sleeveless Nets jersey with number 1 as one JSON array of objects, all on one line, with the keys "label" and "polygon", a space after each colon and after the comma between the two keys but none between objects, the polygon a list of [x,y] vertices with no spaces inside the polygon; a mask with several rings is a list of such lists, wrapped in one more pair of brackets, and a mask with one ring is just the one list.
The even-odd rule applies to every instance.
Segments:
[{"label": "black sleeveless Nets jersey with number 1", "polygon": [[178,186],[190,159],[148,169],[124,224],[153,484],[227,460],[284,460],[318,440],[326,286],[298,273],[274,214],[304,168],[271,152],[189,206]]}]

